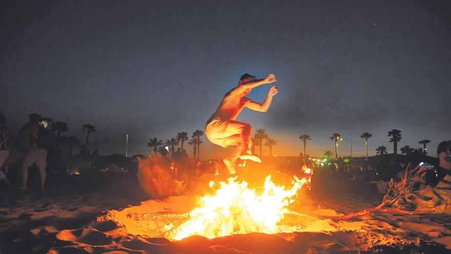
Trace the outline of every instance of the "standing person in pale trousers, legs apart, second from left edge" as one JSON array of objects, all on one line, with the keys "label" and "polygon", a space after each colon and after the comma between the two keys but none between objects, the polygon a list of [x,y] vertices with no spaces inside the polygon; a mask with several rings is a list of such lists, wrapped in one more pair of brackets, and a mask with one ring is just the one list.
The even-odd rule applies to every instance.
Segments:
[{"label": "standing person in pale trousers, legs apart, second from left edge", "polygon": [[27,189],[28,169],[33,164],[39,168],[40,173],[40,189],[44,190],[46,182],[47,154],[55,142],[52,131],[48,130],[47,123],[43,123],[37,133],[36,146],[32,147],[25,155],[24,164],[22,165],[22,187],[21,190]]}]

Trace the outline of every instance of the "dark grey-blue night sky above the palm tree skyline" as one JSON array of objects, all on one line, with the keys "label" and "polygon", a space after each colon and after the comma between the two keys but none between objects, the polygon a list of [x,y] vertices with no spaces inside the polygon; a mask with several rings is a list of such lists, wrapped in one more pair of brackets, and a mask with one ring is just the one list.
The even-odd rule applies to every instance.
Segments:
[{"label": "dark grey-blue night sky above the palm tree skyline", "polygon": [[[33,3],[31,3],[33,2]],[[267,113],[238,120],[266,129],[273,152],[370,155],[402,130],[429,155],[451,139],[449,1],[2,1],[0,112],[17,131],[32,112],[69,124],[65,135],[100,153],[146,153],[149,138],[190,135],[247,72],[275,73]],[[270,85],[249,97],[262,102]],[[201,158],[229,152],[205,136]],[[107,142],[106,139],[112,140]],[[269,153],[264,147],[264,152]],[[192,155],[192,149],[187,147]]]}]

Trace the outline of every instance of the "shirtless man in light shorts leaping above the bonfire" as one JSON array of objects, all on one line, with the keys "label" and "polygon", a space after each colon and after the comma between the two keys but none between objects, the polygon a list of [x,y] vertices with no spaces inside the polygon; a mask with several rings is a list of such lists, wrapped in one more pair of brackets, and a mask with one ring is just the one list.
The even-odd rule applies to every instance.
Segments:
[{"label": "shirtless man in light shorts leaping above the bonfire", "polygon": [[277,79],[274,74],[269,74],[262,80],[257,80],[255,76],[249,75],[248,73],[243,74],[238,82],[238,86],[224,95],[221,104],[219,104],[216,111],[207,121],[205,134],[208,140],[224,148],[235,146],[232,154],[222,160],[230,174],[236,173],[236,160],[238,158],[261,162],[260,158],[253,155],[250,150],[252,147],[252,126],[247,123],[235,121],[235,119],[244,107],[260,112],[268,111],[273,101],[273,96],[279,92],[277,86],[271,87],[267,99],[262,104],[254,102],[245,96],[257,86],[276,81]]}]

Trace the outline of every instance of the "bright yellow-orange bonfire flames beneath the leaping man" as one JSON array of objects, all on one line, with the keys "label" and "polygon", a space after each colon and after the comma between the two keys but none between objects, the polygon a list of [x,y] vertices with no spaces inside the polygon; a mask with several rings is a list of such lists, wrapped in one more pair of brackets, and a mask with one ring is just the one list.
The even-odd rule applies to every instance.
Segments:
[{"label": "bright yellow-orange bonfire flames beneath the leaping man", "polygon": [[[228,182],[210,183],[218,186],[213,196],[201,198],[202,206],[190,212],[187,222],[167,237],[181,240],[194,235],[216,238],[250,232],[278,233],[278,228],[286,206],[294,202],[293,196],[308,180],[293,177],[291,188],[277,186],[271,181],[271,175],[265,179],[262,193],[249,189],[245,181],[238,182],[229,178]],[[294,231],[294,230],[293,230]]]}]

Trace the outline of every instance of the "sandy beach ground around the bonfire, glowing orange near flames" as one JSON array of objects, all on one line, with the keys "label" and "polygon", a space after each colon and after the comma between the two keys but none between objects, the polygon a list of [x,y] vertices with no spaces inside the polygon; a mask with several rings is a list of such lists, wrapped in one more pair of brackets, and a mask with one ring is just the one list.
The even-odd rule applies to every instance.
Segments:
[{"label": "sandy beach ground around the bonfire, glowing orange near flames", "polygon": [[[344,181],[314,182],[290,209],[334,215],[380,203],[375,186]],[[301,232],[170,241],[164,238],[165,226],[183,219],[155,219],[152,214],[189,211],[196,207],[196,197],[149,200],[133,175],[99,173],[45,193],[16,192],[2,193],[0,253],[444,253],[451,248],[446,214],[375,213],[348,222],[289,215],[283,223],[297,223]]]}]

